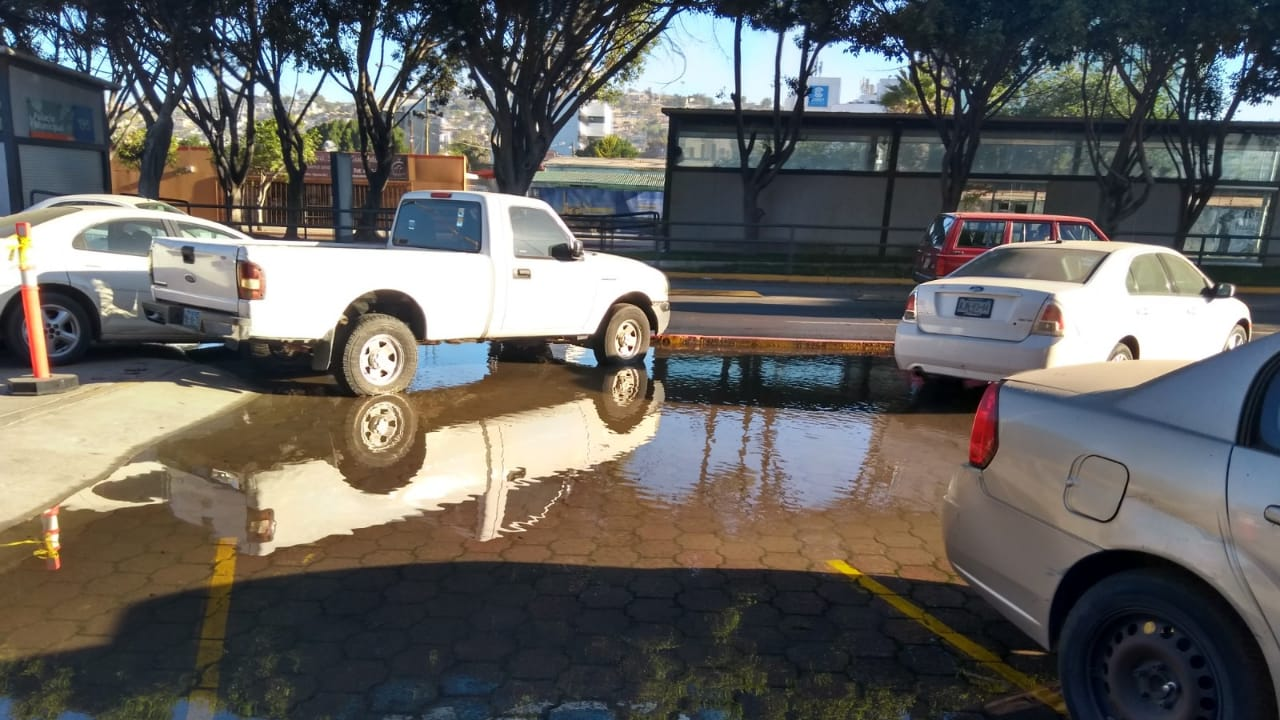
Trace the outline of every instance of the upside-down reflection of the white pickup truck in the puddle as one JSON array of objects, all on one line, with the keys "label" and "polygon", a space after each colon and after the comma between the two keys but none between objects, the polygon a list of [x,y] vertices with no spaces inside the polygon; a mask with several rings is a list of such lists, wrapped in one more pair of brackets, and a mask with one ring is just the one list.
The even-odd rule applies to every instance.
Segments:
[{"label": "upside-down reflection of the white pickup truck in the puddle", "polygon": [[[270,396],[155,454],[173,514],[236,538],[247,555],[471,500],[475,537],[486,541],[538,523],[573,471],[653,439],[663,393],[649,384],[637,366],[512,364],[410,396]],[[124,488],[110,486],[64,505],[101,506]]]}]

